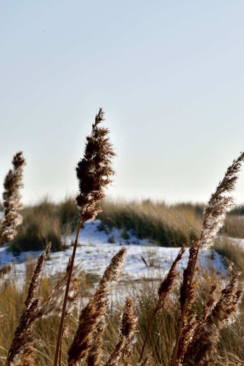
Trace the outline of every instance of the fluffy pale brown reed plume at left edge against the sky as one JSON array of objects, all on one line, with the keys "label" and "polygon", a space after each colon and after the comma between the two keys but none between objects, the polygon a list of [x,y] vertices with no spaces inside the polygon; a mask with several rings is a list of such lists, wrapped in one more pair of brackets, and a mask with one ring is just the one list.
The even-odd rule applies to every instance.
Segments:
[{"label": "fluffy pale brown reed plume at left edge against the sky", "polygon": [[22,151],[15,154],[12,160],[13,168],[10,169],[4,180],[3,206],[4,220],[0,234],[0,245],[4,240],[13,240],[17,234],[15,228],[23,221],[18,213],[22,208],[19,190],[23,188],[23,166],[26,165]]}]

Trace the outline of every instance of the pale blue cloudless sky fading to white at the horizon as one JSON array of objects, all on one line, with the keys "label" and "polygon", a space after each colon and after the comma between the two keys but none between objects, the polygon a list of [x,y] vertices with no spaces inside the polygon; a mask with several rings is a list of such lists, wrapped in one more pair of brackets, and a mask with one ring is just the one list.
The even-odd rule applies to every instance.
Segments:
[{"label": "pale blue cloudless sky fading to white at the horizon", "polygon": [[243,15],[238,0],[1,2],[0,182],[22,150],[24,204],[75,196],[102,107],[109,197],[207,202],[244,150]]}]

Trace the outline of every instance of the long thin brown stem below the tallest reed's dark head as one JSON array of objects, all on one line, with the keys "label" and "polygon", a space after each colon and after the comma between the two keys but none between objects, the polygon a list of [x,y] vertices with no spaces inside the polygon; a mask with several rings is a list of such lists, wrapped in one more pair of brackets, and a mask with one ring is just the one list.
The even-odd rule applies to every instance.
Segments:
[{"label": "long thin brown stem below the tallest reed's dark head", "polygon": [[62,332],[63,332],[63,324],[64,324],[64,318],[65,318],[67,299],[68,299],[68,295],[69,295],[70,280],[71,280],[71,275],[72,275],[72,270],[73,270],[74,257],[75,257],[75,251],[77,248],[78,236],[79,236],[79,232],[80,232],[82,223],[83,223],[83,221],[81,221],[81,217],[80,217],[80,220],[78,222],[78,227],[77,227],[76,238],[75,238],[75,242],[74,242],[73,253],[72,253],[72,257],[71,257],[71,261],[70,261],[70,270],[69,270],[69,276],[67,279],[66,291],[65,291],[64,300],[63,300],[63,309],[62,309],[62,314],[61,314],[61,319],[60,319],[60,324],[59,324],[59,332],[58,332],[58,338],[57,338],[57,343],[56,343],[55,358],[54,358],[53,366],[58,365],[59,349],[60,349]]}]

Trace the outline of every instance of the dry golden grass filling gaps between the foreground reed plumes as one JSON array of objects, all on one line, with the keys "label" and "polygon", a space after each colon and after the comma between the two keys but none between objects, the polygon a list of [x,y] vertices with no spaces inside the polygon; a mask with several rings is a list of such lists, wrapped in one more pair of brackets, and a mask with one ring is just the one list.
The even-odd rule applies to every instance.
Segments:
[{"label": "dry golden grass filling gaps between the foreground reed plumes", "polygon": [[[217,283],[217,295],[220,296],[220,290],[224,287],[226,281],[222,276],[217,275],[211,269],[202,269],[200,273],[197,273],[196,280],[200,283],[200,287],[196,291],[196,302],[193,310],[196,311],[199,318],[202,314],[202,305],[204,300],[207,299],[208,293],[211,288],[211,283]],[[27,280],[26,280],[27,282]],[[40,284],[39,296],[44,299],[47,294],[52,290],[56,284],[57,279],[42,277]],[[110,299],[110,304],[107,306],[109,317],[106,318],[107,327],[104,330],[103,337],[103,358],[104,363],[111,355],[112,350],[119,341],[118,328],[121,325],[121,316],[123,314],[123,302],[125,301],[126,294],[129,289],[129,296],[133,298],[133,312],[137,317],[136,330],[136,344],[134,344],[133,353],[131,357],[132,365],[138,362],[140,352],[143,346],[147,327],[151,318],[151,315],[158,302],[158,287],[160,282],[147,281],[141,279],[140,284],[129,282],[125,283],[121,281],[115,286],[113,290],[113,298]],[[171,292],[168,298],[167,305],[162,309],[162,313],[155,316],[152,323],[151,331],[146,345],[146,352],[154,349],[152,359],[149,361],[149,365],[170,365],[170,355],[172,346],[176,335],[176,322],[179,316],[178,307],[178,291],[179,285],[177,284],[173,292]],[[12,337],[18,324],[19,317],[22,313],[23,303],[26,298],[26,286],[23,286],[23,291],[17,289],[12,284],[2,285],[0,288],[0,365],[5,365],[5,358],[7,351],[10,347]],[[94,291],[94,284],[88,284],[84,273],[81,273],[81,283],[79,286],[79,294],[81,296],[81,305],[85,306],[87,298],[92,296]],[[115,295],[116,294],[116,295]],[[4,299],[8,298],[8,302]],[[80,307],[79,307],[80,308]],[[68,317],[67,322],[70,324],[70,337],[62,340],[62,364],[67,365],[67,350],[70,346],[70,339],[74,336],[75,329],[78,325],[79,308],[74,312],[72,317]],[[244,337],[244,302],[241,300],[239,304],[239,313],[232,317],[232,322],[227,324],[220,333],[220,342],[218,343],[217,365],[224,364],[223,359],[225,355],[231,362],[230,365],[237,365],[236,358],[240,356],[244,357],[243,337]],[[34,343],[34,349],[36,355],[35,363],[39,366],[52,365],[53,353],[55,350],[55,333],[59,325],[59,317],[57,315],[51,315],[48,318],[39,319],[35,326],[36,338],[40,338],[43,342],[43,346],[38,343]],[[73,329],[74,327],[74,329]],[[84,363],[86,364],[86,363]]]}]

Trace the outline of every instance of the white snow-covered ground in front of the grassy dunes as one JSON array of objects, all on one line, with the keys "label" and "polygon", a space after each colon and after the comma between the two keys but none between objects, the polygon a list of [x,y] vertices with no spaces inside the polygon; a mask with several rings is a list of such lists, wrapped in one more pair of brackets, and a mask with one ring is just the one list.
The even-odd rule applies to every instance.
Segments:
[{"label": "white snow-covered ground in front of the grassy dunes", "polygon": [[[79,264],[86,273],[102,276],[104,269],[110,263],[110,259],[121,248],[127,248],[125,264],[123,266],[124,278],[138,279],[140,277],[162,278],[169,270],[172,262],[178,254],[179,248],[158,247],[149,240],[139,240],[136,236],[128,232],[129,239],[121,237],[121,231],[113,228],[110,232],[99,231],[100,221],[95,220],[85,223],[80,231],[78,247],[75,255],[75,264]],[[109,243],[111,238],[114,243]],[[66,268],[69,256],[73,250],[75,234],[66,238],[68,249],[58,253],[51,253],[50,259],[45,264],[45,272],[55,275],[63,272]],[[26,271],[25,261],[27,258],[37,258],[40,251],[26,252],[14,257],[15,276],[18,281],[23,281]],[[185,268],[188,261],[189,250],[186,249],[179,264],[180,268]],[[145,262],[143,261],[143,258]],[[212,250],[200,251],[199,261],[203,267],[212,266],[219,272],[225,273],[222,258]],[[0,266],[13,264],[12,253],[7,247],[0,248]]]}]

